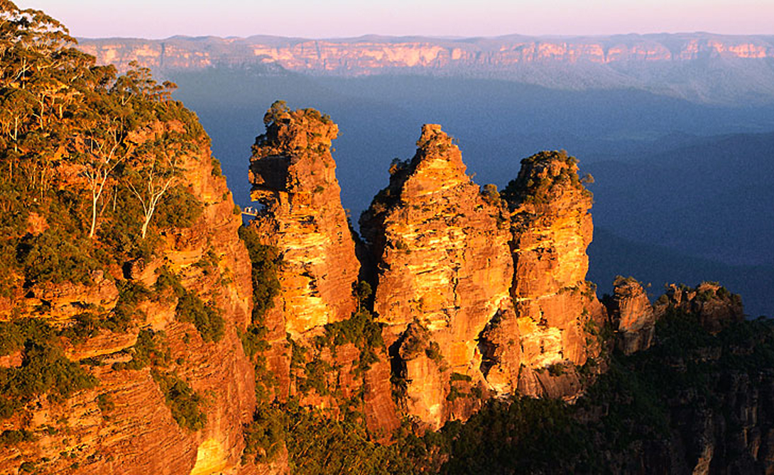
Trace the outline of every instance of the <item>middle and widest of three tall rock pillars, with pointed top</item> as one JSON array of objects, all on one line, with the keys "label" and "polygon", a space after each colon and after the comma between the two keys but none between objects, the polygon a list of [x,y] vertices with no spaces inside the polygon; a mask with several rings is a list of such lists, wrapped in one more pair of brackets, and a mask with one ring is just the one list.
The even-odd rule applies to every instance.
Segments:
[{"label": "middle and widest of three tall rock pillars, with pointed top", "polygon": [[489,386],[476,340],[490,321],[512,316],[507,218],[465,175],[439,125],[423,126],[414,158],[390,171],[361,217],[378,263],[374,310],[406,371],[408,412],[438,427],[457,399],[453,375]]}]

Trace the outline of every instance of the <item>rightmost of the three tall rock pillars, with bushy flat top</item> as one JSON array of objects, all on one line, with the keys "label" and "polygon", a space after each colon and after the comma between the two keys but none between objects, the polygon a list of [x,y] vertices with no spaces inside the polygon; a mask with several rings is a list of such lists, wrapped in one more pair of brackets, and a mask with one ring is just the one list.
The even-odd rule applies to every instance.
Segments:
[{"label": "rightmost of the three tall rock pillars, with bushy flat top", "polygon": [[[514,273],[511,293],[522,344],[519,383],[553,365],[584,365],[598,353],[595,327],[604,322],[595,287],[587,283],[593,225],[591,193],[580,183],[577,160],[564,151],[522,160],[503,193],[511,212]],[[546,388],[531,395],[556,392]]]}]

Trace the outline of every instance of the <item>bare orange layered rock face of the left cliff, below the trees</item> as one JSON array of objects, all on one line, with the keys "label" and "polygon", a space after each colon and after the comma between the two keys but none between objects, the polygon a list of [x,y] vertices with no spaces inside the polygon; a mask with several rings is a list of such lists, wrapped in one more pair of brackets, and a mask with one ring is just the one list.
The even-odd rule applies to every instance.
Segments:
[{"label": "bare orange layered rock face of the left cliff, below the trees", "polygon": [[[127,263],[125,268],[133,269],[128,280],[117,267],[109,277],[95,273],[91,285],[39,285],[27,293],[29,301],[18,302],[15,317],[36,317],[67,335],[84,309],[111,314],[126,298],[125,286],[158,289],[159,276],[166,273],[180,292],[217,308],[221,337],[203,338],[192,321],[176,316],[179,294],[159,291],[138,299],[125,332],[100,328],[83,338],[61,338],[64,358],[80,361],[95,384],[63,401],[41,395],[4,419],[2,430],[31,436],[0,446],[0,472],[16,473],[22,463],[39,473],[233,473],[240,467],[241,427],[255,405],[252,365],[237,336],[251,306],[249,260],[237,236],[241,217],[212,163],[202,138],[180,164],[185,170],[180,182],[204,205],[203,212],[190,227],[166,229],[147,262]],[[50,305],[41,307],[43,301]],[[126,368],[143,351],[140,334],[154,335],[165,356],[158,365]],[[170,409],[174,396],[165,395],[159,374],[190,388],[186,397],[194,395],[206,422],[196,429],[180,422]]]}]

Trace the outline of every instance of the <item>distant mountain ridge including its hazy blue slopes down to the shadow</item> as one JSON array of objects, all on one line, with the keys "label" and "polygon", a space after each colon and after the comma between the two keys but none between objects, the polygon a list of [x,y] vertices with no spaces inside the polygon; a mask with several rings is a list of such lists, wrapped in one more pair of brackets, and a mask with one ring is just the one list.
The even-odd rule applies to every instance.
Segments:
[{"label": "distant mountain ridge including its hazy blue slopes down to the shadow", "polygon": [[635,88],[700,103],[774,102],[774,36],[712,33],[438,39],[278,36],[81,39],[118,70],[259,67],[316,76],[415,74],[514,80],[564,90]]}]

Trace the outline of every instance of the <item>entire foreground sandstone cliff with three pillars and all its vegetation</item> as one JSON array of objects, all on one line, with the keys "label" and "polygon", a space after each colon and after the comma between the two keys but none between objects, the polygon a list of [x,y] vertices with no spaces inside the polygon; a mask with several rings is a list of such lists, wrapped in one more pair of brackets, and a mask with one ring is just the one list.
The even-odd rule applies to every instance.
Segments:
[{"label": "entire foreground sandstone cliff with three pillars and all its vegetation", "polygon": [[[328,117],[272,105],[251,164],[262,207],[238,232],[168,84],[91,67],[41,12],[5,2],[3,18],[3,473],[426,473],[455,455],[467,472],[772,472],[774,326],[716,283],[672,286],[654,312],[618,280],[624,352],[652,346],[581,386],[605,314],[574,158],[525,159],[501,196],[426,125],[362,217],[361,281]],[[399,412],[423,432],[481,408],[494,423],[389,446]],[[550,430],[563,458],[546,459]]]}]

